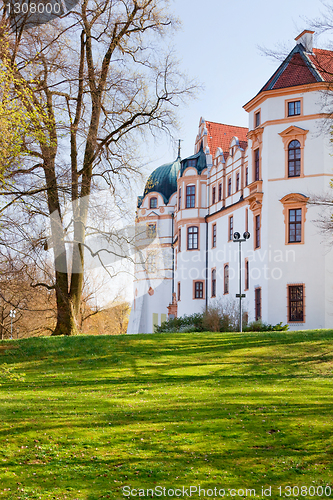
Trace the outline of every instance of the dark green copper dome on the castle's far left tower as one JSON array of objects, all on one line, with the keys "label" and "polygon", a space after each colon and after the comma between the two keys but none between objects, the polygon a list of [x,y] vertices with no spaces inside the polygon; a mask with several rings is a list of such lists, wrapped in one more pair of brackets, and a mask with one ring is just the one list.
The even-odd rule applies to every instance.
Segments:
[{"label": "dark green copper dome on the castle's far left tower", "polygon": [[146,182],[143,196],[138,198],[138,207],[141,206],[143,198],[152,192],[160,193],[163,196],[165,204],[173,193],[177,191],[177,175],[180,170],[180,158],[172,163],[166,163],[158,167],[150,174]]}]

